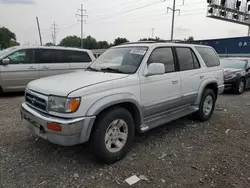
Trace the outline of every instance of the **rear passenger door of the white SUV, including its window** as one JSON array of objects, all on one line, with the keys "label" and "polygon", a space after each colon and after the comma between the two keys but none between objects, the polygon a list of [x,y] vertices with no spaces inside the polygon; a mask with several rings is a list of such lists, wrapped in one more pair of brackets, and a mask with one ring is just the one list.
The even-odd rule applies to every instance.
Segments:
[{"label": "rear passenger door of the white SUV, including its window", "polygon": [[192,105],[197,99],[205,75],[202,74],[199,61],[191,48],[176,47],[175,50],[181,77],[182,104]]}]

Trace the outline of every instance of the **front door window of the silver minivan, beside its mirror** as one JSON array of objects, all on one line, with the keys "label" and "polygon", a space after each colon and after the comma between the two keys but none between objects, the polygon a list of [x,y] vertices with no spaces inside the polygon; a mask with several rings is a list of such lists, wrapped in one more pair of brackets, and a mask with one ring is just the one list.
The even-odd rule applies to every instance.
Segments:
[{"label": "front door window of the silver minivan, beside its mirror", "polygon": [[30,64],[33,60],[32,50],[19,50],[9,55],[10,64]]}]

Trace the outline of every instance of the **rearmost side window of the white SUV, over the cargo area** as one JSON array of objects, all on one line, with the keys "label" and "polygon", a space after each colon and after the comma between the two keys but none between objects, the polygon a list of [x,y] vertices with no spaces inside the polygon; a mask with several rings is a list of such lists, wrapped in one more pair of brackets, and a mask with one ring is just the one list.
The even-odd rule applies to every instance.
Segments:
[{"label": "rearmost side window of the white SUV, over the cargo area", "polygon": [[220,65],[220,60],[212,48],[196,47],[207,67]]}]

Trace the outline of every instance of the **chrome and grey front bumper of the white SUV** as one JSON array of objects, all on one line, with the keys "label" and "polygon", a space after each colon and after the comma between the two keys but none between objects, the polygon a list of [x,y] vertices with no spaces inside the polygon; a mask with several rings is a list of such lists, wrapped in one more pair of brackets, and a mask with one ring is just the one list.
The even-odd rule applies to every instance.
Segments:
[{"label": "chrome and grey front bumper of the white SUV", "polygon": [[[26,103],[21,106],[21,116],[27,128],[52,143],[72,146],[87,142],[95,120],[92,117],[59,118],[38,112]],[[53,131],[47,128],[48,123],[56,123],[62,127],[61,131]]]}]

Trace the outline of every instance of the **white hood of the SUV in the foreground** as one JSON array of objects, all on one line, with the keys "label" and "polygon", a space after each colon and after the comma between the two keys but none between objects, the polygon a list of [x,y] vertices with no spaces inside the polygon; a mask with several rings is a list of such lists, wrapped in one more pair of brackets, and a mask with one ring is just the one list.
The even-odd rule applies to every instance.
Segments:
[{"label": "white hood of the SUV in the foreground", "polygon": [[28,84],[28,89],[46,95],[67,96],[72,91],[127,77],[127,74],[78,71],[41,78]]}]

